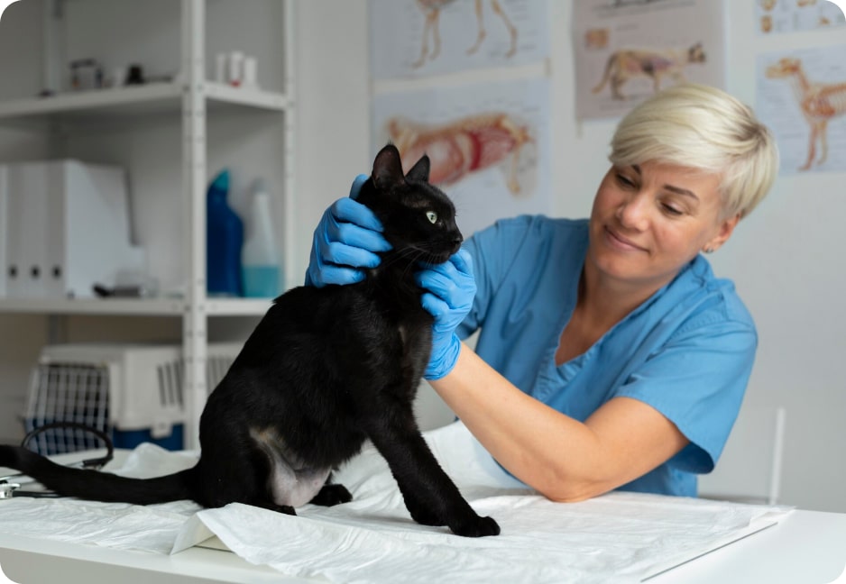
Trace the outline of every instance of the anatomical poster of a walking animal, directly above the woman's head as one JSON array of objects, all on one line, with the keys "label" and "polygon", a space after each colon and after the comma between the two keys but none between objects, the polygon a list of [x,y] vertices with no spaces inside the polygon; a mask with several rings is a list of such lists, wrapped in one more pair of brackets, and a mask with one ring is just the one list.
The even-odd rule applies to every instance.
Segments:
[{"label": "anatomical poster of a walking animal, directly above the woman's head", "polygon": [[725,84],[723,3],[574,0],[576,116],[618,117],[685,80]]}]

